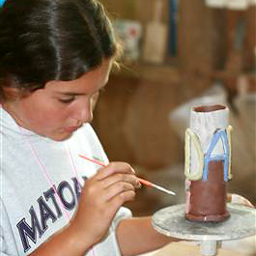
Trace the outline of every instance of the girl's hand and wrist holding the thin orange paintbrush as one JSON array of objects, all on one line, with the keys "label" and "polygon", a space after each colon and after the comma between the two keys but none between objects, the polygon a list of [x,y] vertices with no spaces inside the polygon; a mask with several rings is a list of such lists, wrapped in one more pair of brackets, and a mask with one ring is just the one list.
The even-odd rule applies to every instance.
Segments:
[{"label": "girl's hand and wrist holding the thin orange paintbrush", "polygon": [[125,162],[111,162],[85,182],[77,212],[71,225],[77,229],[79,241],[91,245],[106,235],[115,213],[135,196],[140,183]]}]

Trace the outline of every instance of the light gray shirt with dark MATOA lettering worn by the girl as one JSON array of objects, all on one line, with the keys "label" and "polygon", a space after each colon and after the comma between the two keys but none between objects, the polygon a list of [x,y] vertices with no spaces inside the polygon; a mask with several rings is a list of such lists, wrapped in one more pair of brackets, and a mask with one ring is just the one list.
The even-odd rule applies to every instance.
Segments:
[{"label": "light gray shirt with dark MATOA lettering worn by the girl", "polygon": [[[0,251],[2,256],[29,255],[67,225],[77,207],[80,185],[100,167],[78,155],[104,163],[108,159],[89,124],[70,139],[56,142],[19,128],[3,108],[0,111]],[[108,236],[88,255],[120,255],[115,228],[130,215],[122,207]]]}]

